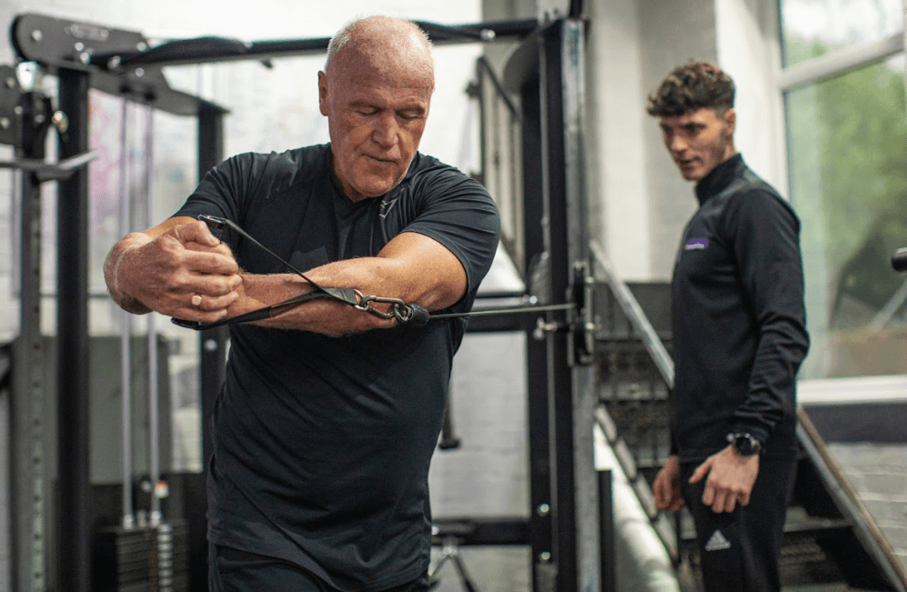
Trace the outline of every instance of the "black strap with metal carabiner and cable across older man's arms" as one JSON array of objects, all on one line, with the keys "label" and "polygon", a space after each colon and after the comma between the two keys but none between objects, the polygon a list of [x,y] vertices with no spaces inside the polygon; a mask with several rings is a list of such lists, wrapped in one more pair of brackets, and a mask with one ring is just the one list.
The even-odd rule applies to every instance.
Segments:
[{"label": "black strap with metal carabiner and cable across older man's arms", "polygon": [[[519,313],[529,313],[529,312],[544,312],[544,311],[556,311],[556,310],[572,310],[576,307],[574,303],[559,304],[559,305],[540,305],[540,306],[509,306],[502,308],[489,308],[486,310],[474,310],[463,313],[429,313],[424,306],[419,306],[415,303],[406,303],[399,298],[389,298],[385,296],[365,296],[359,290],[353,288],[338,288],[338,287],[324,287],[319,286],[316,282],[312,281],[305,274],[299,271],[296,267],[290,265],[283,257],[277,255],[274,251],[267,248],[267,246],[259,243],[253,236],[249,235],[245,230],[238,226],[232,220],[227,218],[221,218],[218,216],[207,216],[205,214],[199,215],[198,219],[205,222],[208,228],[211,230],[212,234],[218,239],[222,239],[224,231],[228,228],[236,232],[239,236],[246,238],[253,245],[264,250],[268,255],[273,256],[281,264],[287,266],[288,269],[297,274],[297,276],[306,280],[309,285],[311,285],[314,290],[307,294],[301,296],[294,296],[283,302],[278,302],[277,304],[271,306],[264,306],[258,308],[257,310],[250,311],[246,314],[233,316],[230,318],[225,318],[221,321],[215,323],[201,323],[199,321],[187,321],[180,318],[171,318],[171,322],[175,325],[183,326],[189,329],[195,329],[197,331],[213,329],[217,326],[225,325],[237,325],[240,323],[251,323],[253,321],[259,321],[266,318],[271,318],[276,314],[287,310],[287,308],[292,306],[298,306],[309,300],[315,300],[317,298],[328,298],[331,300],[336,300],[342,302],[348,306],[353,306],[358,310],[367,312],[370,315],[379,316],[381,318],[396,318],[397,322],[403,326],[424,326],[428,323],[429,320],[442,320],[449,318],[456,318],[461,316],[488,316],[488,315],[502,315],[502,314],[519,314]],[[384,312],[372,306],[372,303],[375,304],[389,304],[391,305],[392,312]]]}]

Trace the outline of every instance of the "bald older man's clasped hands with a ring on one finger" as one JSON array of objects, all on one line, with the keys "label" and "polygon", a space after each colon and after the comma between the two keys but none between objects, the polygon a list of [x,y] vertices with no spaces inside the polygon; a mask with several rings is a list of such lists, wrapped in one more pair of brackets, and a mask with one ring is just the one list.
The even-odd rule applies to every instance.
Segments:
[{"label": "bald older man's clasped hands with a ring on one finger", "polygon": [[111,251],[105,276],[126,310],[206,323],[227,317],[242,283],[229,247],[191,218],[126,236]]}]

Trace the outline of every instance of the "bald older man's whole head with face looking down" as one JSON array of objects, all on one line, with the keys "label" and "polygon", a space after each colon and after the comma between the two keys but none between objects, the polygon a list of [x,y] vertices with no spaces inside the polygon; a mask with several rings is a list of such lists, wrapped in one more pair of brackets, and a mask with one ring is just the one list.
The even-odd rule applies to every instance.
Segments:
[{"label": "bald older man's whole head with face looking down", "polygon": [[352,201],[383,196],[407,175],[435,90],[431,46],[418,26],[387,16],[336,35],[318,73],[334,175]]}]

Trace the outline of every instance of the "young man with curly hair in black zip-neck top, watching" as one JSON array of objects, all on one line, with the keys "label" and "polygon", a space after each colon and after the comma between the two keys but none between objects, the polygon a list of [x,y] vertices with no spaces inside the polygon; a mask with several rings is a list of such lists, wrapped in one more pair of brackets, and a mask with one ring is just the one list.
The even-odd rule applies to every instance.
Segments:
[{"label": "young man with curly hair in black zip-neck top, watching", "polygon": [[703,62],[649,97],[700,202],[671,281],[673,448],[653,488],[660,509],[690,508],[707,592],[766,592],[781,589],[809,337],[800,222],[734,149],[733,105],[731,77]]}]

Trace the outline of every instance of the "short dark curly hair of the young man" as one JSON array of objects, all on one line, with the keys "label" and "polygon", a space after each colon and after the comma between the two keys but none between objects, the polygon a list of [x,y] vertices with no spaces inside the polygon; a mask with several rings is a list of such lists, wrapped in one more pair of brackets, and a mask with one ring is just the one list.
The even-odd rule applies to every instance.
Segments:
[{"label": "short dark curly hair of the young man", "polygon": [[654,117],[676,117],[702,108],[723,113],[734,106],[734,81],[717,65],[690,60],[674,69],[654,93],[646,111]]}]

